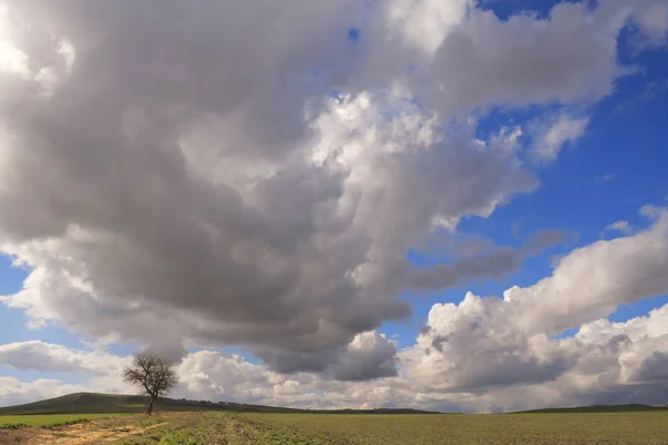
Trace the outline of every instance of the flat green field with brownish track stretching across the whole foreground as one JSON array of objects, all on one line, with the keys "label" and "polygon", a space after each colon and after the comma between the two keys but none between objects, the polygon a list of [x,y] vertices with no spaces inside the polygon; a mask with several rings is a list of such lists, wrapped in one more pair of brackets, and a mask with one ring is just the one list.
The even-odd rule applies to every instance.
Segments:
[{"label": "flat green field with brownish track stretching across the whole foreground", "polygon": [[[12,416],[36,425],[67,416]],[[76,416],[69,416],[70,419]],[[84,417],[84,416],[81,416]],[[86,416],[90,417],[90,416]],[[104,416],[101,416],[104,417]],[[668,445],[668,413],[342,415],[166,413],[0,429],[0,443],[116,445]],[[0,416],[0,419],[3,417]],[[2,422],[2,421],[0,421]]]}]

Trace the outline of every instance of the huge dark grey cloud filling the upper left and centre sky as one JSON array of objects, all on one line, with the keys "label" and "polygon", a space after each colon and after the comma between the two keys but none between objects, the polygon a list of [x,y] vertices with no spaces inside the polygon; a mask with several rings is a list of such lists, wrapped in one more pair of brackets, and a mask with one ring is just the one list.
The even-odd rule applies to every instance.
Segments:
[{"label": "huge dark grey cloud filling the upper left and centre sky", "polygon": [[[266,347],[277,369],[331,359],[336,378],[373,377],[346,370],[366,358],[337,355],[410,315],[389,279],[410,244],[436,217],[536,187],[512,156],[470,150],[472,129],[438,136],[411,105],[387,121],[367,106],[403,103],[386,93],[327,101],[352,4],[10,6],[32,31],[17,31],[28,71],[7,75],[0,106],[0,240],[35,267],[9,304],[37,323]],[[315,69],[334,77],[299,80]],[[392,373],[385,353],[367,359]]]}]

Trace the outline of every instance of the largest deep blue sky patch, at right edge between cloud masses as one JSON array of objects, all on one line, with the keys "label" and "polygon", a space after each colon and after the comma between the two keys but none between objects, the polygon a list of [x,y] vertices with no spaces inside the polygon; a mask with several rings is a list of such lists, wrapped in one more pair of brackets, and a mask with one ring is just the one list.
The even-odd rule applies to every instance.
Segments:
[{"label": "largest deep blue sky patch, at right edge between cloud masses", "polygon": [[[664,166],[668,165],[666,91],[637,103],[633,113],[621,116],[618,109],[645,97],[644,88],[656,85],[657,77],[662,78],[662,73],[621,79],[619,89],[626,95],[615,95],[597,107],[577,146],[563,150],[554,165],[538,171],[538,190],[515,197],[489,220],[465,219],[461,229],[483,230],[493,220],[500,230],[495,230],[493,238],[500,241],[512,225],[521,225],[524,234],[556,227],[579,231],[587,244],[598,239],[601,230],[616,220],[641,225],[639,208],[645,204],[661,205],[668,196],[664,174]],[[482,128],[498,127],[503,120],[501,111],[491,113]]]}]

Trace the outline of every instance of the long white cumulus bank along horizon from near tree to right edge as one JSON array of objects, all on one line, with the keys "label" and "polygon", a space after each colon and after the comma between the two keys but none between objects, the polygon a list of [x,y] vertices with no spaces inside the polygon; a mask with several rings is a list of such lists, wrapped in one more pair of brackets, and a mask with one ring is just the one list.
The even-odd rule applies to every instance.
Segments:
[{"label": "long white cumulus bank along horizon from near tree to right edge", "polygon": [[[307,407],[370,406],[373,400],[375,406],[473,412],[662,403],[668,382],[664,366],[668,356],[668,305],[625,323],[605,318],[619,304],[668,291],[664,274],[668,214],[657,211],[657,219],[644,231],[576,249],[561,259],[552,276],[524,289],[509,289],[503,299],[469,293],[459,305],[434,305],[415,346],[399,352],[396,377],[374,384],[343,383],[305,373],[265,375],[262,366],[252,365],[249,375],[264,375],[262,384],[250,378],[257,389],[254,394],[259,397],[252,399]],[[654,245],[656,249],[648,248]],[[645,255],[627,256],[629,249]],[[621,274],[619,267],[629,268],[628,258],[635,258],[638,267]],[[656,267],[647,269],[650,264]],[[591,273],[588,281],[580,280],[581,267],[599,273]],[[619,293],[611,294],[612,284],[602,277],[621,275],[625,284],[616,281]],[[569,286],[583,286],[587,296]],[[578,305],[578,300],[583,303]],[[537,308],[542,309],[540,317],[532,315]],[[577,327],[577,334],[557,335],[568,327]],[[197,360],[204,356],[223,360],[213,353]],[[207,374],[207,385],[225,382],[226,374],[234,375],[228,370],[217,377]],[[325,397],[316,402],[314,394]],[[249,395],[244,393],[243,397]]]}]

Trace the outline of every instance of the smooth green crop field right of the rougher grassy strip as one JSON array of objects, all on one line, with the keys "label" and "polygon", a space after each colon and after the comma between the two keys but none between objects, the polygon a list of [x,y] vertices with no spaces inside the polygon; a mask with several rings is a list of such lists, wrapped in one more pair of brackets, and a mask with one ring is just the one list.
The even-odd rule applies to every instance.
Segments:
[{"label": "smooth green crop field right of the rougher grassy strip", "polygon": [[668,445],[667,412],[245,416],[351,445]]}]

